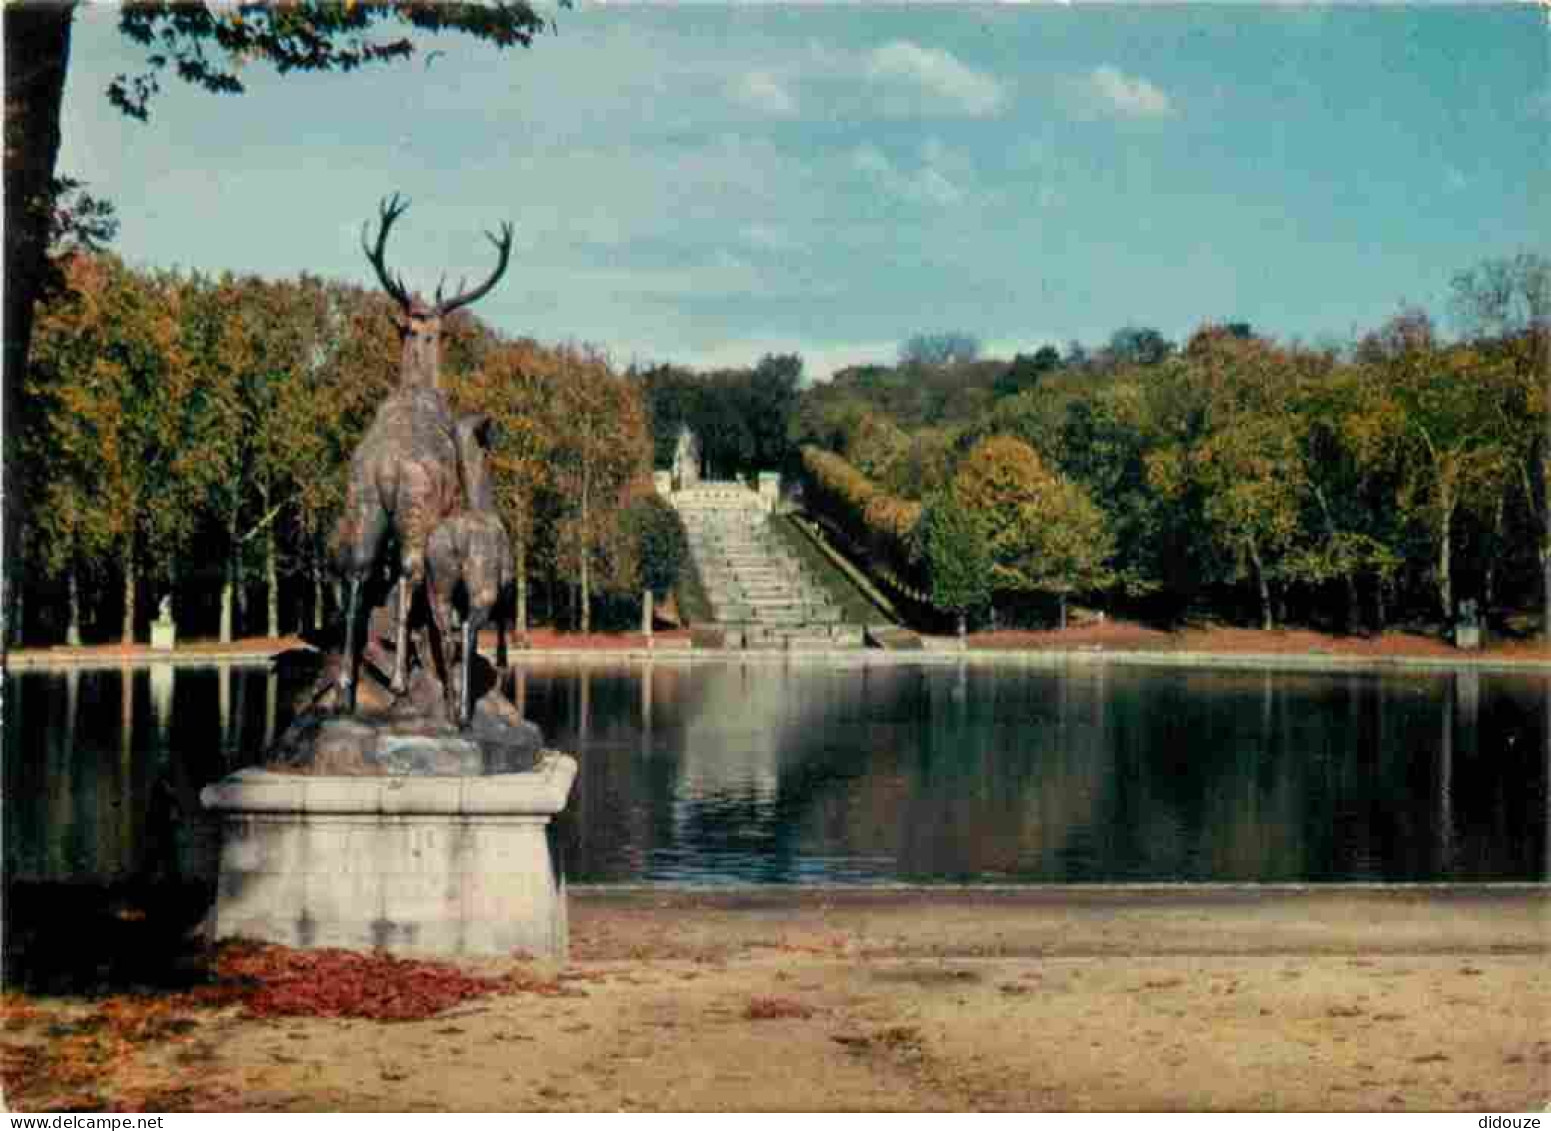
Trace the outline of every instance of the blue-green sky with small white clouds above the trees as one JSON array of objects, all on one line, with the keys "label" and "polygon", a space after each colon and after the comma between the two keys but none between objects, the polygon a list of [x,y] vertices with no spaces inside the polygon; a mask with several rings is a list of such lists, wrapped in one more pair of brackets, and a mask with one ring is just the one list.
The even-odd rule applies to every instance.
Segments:
[{"label": "blue-green sky with small white clouds above the trees", "polygon": [[[1481,259],[1551,253],[1551,8],[596,3],[532,48],[104,90],[141,50],[76,16],[59,171],[141,267],[411,289],[617,365],[813,379],[914,334],[988,355],[1121,326],[1349,341]],[[437,51],[439,54],[430,54]]]}]

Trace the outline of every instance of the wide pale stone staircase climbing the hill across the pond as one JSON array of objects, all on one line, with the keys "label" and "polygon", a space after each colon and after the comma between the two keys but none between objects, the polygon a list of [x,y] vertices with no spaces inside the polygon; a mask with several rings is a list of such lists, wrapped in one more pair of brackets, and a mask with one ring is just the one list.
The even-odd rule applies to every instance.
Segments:
[{"label": "wide pale stone staircase climbing the hill across the pond", "polygon": [[678,492],[673,500],[712,614],[729,644],[861,647],[861,627],[844,624],[839,605],[771,529],[758,496],[748,490],[744,495],[696,490]]}]

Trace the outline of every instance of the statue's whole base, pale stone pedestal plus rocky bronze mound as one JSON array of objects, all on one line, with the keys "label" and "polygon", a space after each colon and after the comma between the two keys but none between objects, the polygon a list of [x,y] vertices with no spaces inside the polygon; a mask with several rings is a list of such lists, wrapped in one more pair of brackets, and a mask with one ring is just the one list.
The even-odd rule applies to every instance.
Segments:
[{"label": "statue's whole base, pale stone pedestal plus rocky bronze mound", "polygon": [[313,675],[264,765],[206,787],[220,815],[217,939],[405,954],[565,959],[551,827],[575,759],[543,749],[476,661],[473,720],[451,721],[425,664],[388,690],[380,638],[340,711],[338,656],[287,653]]}]

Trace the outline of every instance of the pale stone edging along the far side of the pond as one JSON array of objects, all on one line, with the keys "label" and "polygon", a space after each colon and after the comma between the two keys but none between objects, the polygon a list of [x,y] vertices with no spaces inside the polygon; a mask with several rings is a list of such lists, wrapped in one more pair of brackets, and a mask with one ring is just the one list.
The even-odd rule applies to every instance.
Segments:
[{"label": "pale stone edging along the far side of the pond", "polygon": [[[236,664],[267,667],[275,656],[287,652],[154,652],[143,649],[115,655],[70,652],[19,652],[6,658],[6,670],[70,670],[102,667],[141,667],[149,664]],[[1003,666],[1003,667],[1067,667],[1123,664],[1131,667],[1199,667],[1250,672],[1523,672],[1551,673],[1548,659],[1503,659],[1492,656],[1343,656],[1335,653],[1307,655],[1286,652],[1129,652],[1106,649],[1039,649],[1039,650],[960,650],[927,645],[920,652],[886,652],[883,649],[538,649],[513,652],[513,666],[535,667],[549,662],[676,662],[676,664],[793,664],[830,667],[917,667],[917,666]]]}]

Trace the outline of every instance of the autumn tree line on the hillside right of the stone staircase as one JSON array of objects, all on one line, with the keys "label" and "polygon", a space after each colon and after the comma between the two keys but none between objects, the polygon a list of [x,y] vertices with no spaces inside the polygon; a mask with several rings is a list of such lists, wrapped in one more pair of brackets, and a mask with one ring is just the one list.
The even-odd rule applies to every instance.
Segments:
[{"label": "autumn tree line on the hillside right of the stone staircase", "polygon": [[[974,351],[842,371],[793,420],[808,501],[941,616],[1064,624],[1073,596],[1340,630],[1551,605],[1551,264],[1453,281],[1345,348],[1244,323],[1182,346]],[[906,358],[909,352],[909,358]]]}]

